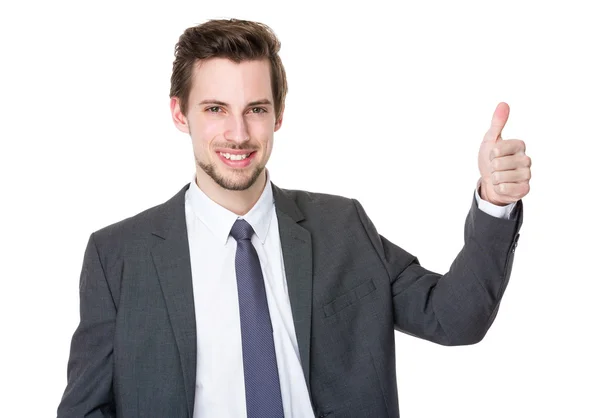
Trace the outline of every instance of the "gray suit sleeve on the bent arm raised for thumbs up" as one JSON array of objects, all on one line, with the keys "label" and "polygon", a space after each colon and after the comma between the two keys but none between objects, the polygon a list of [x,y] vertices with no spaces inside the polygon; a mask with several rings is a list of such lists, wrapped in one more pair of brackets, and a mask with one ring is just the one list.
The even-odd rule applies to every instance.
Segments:
[{"label": "gray suit sleeve on the bent arm raised for thumbs up", "polygon": [[379,235],[360,203],[354,203],[388,272],[395,329],[442,345],[481,341],[510,278],[522,201],[511,219],[501,219],[479,209],[473,196],[464,245],[443,275],[422,267],[417,257]]}]

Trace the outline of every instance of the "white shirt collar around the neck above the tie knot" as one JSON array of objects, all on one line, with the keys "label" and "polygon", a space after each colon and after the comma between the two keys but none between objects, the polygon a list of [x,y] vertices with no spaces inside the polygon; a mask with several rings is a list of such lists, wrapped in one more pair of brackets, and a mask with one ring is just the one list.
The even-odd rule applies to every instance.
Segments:
[{"label": "white shirt collar around the neck above the tie knot", "polygon": [[238,216],[211,200],[196,184],[196,174],[194,173],[188,190],[189,203],[196,217],[206,225],[223,245],[227,243],[231,228],[237,219],[245,219],[254,229],[254,233],[260,242],[265,243],[274,210],[271,176],[269,170],[265,170],[267,173],[265,188],[258,201],[244,216]]}]

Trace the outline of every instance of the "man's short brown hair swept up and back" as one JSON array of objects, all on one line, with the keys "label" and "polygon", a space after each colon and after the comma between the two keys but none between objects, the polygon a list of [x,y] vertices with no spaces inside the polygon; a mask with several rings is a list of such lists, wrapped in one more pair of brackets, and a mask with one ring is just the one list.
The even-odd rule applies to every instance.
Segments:
[{"label": "man's short brown hair swept up and back", "polygon": [[287,94],[285,69],[278,52],[281,43],[263,23],[238,19],[213,19],[187,28],[175,45],[169,97],[178,97],[184,115],[192,88],[194,65],[198,60],[228,58],[236,63],[268,59],[271,64],[273,106],[278,119]]}]

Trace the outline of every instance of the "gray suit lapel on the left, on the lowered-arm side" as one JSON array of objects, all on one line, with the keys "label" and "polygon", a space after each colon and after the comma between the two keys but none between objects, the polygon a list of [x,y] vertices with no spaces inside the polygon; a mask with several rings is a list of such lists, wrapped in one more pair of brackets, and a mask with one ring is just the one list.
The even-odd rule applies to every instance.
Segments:
[{"label": "gray suit lapel on the left, on the lowered-arm side", "polygon": [[196,385],[196,316],[183,189],[159,208],[154,218],[152,260],[179,349],[188,416],[194,410]]}]

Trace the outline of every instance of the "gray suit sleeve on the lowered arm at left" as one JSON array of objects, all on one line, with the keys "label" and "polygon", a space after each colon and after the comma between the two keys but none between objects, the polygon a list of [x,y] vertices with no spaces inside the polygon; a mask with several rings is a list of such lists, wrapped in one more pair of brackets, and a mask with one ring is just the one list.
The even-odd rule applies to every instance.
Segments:
[{"label": "gray suit sleeve on the lowered arm at left", "polygon": [[80,322],[73,334],[67,387],[58,417],[114,417],[113,335],[116,306],[90,235],[79,282]]}]

